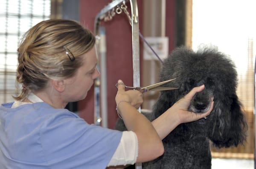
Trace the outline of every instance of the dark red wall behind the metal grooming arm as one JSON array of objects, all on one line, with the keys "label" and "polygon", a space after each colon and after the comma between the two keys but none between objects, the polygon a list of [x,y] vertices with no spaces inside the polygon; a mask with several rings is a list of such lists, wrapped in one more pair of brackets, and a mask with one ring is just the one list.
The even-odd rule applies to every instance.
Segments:
[{"label": "dark red wall behind the metal grooming arm", "polygon": [[[111,0],[80,0],[80,22],[93,32],[96,14]],[[143,1],[137,0],[139,10],[140,30],[143,20]],[[166,0],[166,36],[169,37],[169,49],[174,48],[174,8],[175,0]],[[129,10],[130,11],[130,8]],[[133,85],[132,76],[132,44],[131,26],[124,13],[116,14],[112,21],[102,22],[106,28],[107,40],[107,89],[108,89],[108,127],[113,129],[116,118],[116,87],[118,79],[122,79],[126,85]],[[143,34],[143,32],[141,32]],[[142,60],[143,48],[140,42],[140,59]],[[142,69],[143,65],[140,65]],[[142,74],[142,73],[141,73]],[[140,78],[142,79],[142,77]],[[93,89],[88,92],[87,98],[79,101],[79,115],[89,124],[93,123]]]}]

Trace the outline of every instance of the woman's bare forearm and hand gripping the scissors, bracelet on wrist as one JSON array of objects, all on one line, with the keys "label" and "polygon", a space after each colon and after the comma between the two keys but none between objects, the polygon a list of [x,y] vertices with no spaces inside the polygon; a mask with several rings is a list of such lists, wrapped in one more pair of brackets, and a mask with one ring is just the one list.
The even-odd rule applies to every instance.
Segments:
[{"label": "woman's bare forearm and hand gripping the scissors, bracelet on wrist", "polygon": [[[139,144],[138,163],[151,161],[164,152],[163,143],[153,125],[135,108],[140,106],[142,102],[142,93],[137,90],[125,91],[124,85],[118,85],[116,94],[117,111],[122,116],[127,129],[134,131],[137,135]],[[133,107],[130,103],[136,106]]]}]

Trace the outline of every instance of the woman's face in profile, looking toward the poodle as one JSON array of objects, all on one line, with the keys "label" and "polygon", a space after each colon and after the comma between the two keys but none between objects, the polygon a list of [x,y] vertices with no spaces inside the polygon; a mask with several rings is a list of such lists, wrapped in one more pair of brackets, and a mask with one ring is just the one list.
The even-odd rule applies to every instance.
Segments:
[{"label": "woman's face in profile, looking toward the poodle", "polygon": [[77,70],[75,76],[67,79],[64,93],[67,93],[67,102],[79,101],[87,96],[88,90],[93,85],[93,80],[99,77],[99,70],[96,68],[96,49],[82,55],[83,65]]}]

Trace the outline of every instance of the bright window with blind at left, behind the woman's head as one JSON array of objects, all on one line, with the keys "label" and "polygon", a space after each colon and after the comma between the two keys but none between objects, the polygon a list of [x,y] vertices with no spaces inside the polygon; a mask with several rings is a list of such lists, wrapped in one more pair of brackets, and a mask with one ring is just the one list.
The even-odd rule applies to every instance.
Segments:
[{"label": "bright window with blind at left, behind the woman's head", "polygon": [[13,101],[17,45],[33,25],[50,17],[51,0],[0,0],[0,103]]}]

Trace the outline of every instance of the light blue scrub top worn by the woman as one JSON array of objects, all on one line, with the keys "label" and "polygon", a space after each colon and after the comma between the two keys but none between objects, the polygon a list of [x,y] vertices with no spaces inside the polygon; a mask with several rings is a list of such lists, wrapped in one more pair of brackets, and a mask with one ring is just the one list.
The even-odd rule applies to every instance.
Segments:
[{"label": "light blue scrub top worn by the woman", "polygon": [[0,169],[105,169],[122,132],[45,102],[0,106]]}]

